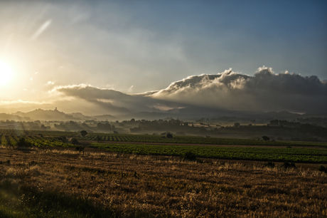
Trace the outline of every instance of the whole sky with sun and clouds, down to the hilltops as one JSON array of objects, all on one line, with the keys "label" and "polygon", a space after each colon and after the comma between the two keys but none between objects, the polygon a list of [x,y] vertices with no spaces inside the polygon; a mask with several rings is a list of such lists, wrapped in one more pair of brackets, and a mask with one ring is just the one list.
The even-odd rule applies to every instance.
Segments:
[{"label": "whole sky with sun and clouds, down to the hilltops", "polygon": [[327,110],[326,1],[0,1],[0,113]]}]

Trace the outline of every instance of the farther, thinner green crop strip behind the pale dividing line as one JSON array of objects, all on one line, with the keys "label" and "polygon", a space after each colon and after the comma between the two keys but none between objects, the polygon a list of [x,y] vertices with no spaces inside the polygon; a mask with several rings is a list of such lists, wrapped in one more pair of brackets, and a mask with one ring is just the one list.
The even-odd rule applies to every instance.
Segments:
[{"label": "farther, thinner green crop strip behind the pale dividing line", "polygon": [[202,144],[202,145],[270,145],[270,146],[320,146],[327,147],[323,142],[285,142],[285,141],[262,141],[235,138],[196,137],[196,136],[173,136],[173,138],[161,135],[87,135],[80,140],[97,140],[113,142],[154,142],[154,143],[178,143],[178,144]]}]

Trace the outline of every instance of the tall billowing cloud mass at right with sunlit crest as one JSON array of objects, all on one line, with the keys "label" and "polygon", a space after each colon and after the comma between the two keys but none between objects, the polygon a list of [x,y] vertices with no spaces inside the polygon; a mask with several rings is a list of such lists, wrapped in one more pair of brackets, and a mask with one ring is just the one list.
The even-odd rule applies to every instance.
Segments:
[{"label": "tall billowing cloud mass at right with sunlit crest", "polygon": [[259,68],[254,76],[232,70],[218,75],[190,76],[159,90],[153,98],[231,110],[304,113],[327,109],[327,83],[316,76],[275,74]]}]

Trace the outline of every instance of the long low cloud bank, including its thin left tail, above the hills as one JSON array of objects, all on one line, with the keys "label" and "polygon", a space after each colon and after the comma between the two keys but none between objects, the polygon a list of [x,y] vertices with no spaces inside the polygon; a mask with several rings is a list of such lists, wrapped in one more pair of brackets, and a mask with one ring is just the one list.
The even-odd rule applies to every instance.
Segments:
[{"label": "long low cloud bank, including its thin left tail, above the hills", "polygon": [[52,91],[94,103],[113,114],[188,106],[295,113],[327,111],[326,81],[287,71],[276,74],[266,67],[259,68],[254,76],[231,69],[216,75],[189,76],[166,89],[148,93],[127,94],[85,84],[57,86]]}]

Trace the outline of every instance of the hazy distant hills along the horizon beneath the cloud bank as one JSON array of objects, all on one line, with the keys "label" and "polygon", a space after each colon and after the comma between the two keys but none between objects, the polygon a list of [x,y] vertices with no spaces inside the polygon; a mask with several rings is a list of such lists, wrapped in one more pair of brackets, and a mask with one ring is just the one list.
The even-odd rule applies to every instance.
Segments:
[{"label": "hazy distant hills along the horizon beneath the cloud bank", "polygon": [[215,108],[203,107],[186,107],[163,112],[139,112],[126,113],[124,115],[83,115],[82,113],[63,113],[59,110],[42,110],[37,109],[28,113],[16,112],[14,114],[0,113],[0,120],[60,120],[60,121],[84,121],[84,120],[159,120],[164,118],[180,118],[180,119],[199,119],[199,118],[222,118],[235,117],[247,119],[264,119],[264,120],[295,120],[296,118],[311,118],[311,117],[326,117],[326,114],[304,114],[289,113],[287,111],[281,112],[262,112],[262,111],[247,111],[247,110],[224,110]]}]

